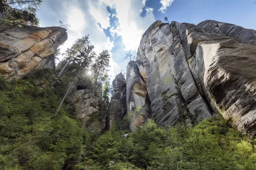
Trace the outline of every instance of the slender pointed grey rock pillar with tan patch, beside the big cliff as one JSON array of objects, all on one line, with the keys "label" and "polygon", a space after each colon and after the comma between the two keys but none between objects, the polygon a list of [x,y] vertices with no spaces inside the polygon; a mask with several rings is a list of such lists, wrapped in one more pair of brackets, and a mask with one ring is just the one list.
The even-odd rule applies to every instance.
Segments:
[{"label": "slender pointed grey rock pillar with tan patch, beside the big cliff", "polygon": [[130,116],[130,129],[142,126],[151,117],[150,102],[145,81],[135,61],[130,61],[126,71],[126,105]]}]

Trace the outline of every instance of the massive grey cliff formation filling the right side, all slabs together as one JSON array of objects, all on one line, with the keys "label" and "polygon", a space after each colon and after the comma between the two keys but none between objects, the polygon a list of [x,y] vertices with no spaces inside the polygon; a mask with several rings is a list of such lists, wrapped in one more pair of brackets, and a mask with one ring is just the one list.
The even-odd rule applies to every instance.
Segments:
[{"label": "massive grey cliff formation filling the right side, all slabs together", "polygon": [[[139,71],[131,62],[127,72],[143,77],[141,87],[159,125],[192,125],[221,113],[233,127],[250,133],[256,130],[255,42],[256,31],[232,24],[157,21],[140,42]],[[140,82],[134,75],[127,78],[128,108],[140,104],[129,98],[130,82]]]}]

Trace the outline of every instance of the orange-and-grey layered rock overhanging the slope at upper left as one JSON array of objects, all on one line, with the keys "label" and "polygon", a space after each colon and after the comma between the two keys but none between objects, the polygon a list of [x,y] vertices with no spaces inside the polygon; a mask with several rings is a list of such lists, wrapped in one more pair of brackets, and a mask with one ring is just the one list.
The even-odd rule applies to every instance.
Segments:
[{"label": "orange-and-grey layered rock overhanging the slope at upper left", "polygon": [[49,56],[67,40],[66,31],[25,26],[0,32],[0,75],[18,79],[33,69],[54,69],[55,62]]}]

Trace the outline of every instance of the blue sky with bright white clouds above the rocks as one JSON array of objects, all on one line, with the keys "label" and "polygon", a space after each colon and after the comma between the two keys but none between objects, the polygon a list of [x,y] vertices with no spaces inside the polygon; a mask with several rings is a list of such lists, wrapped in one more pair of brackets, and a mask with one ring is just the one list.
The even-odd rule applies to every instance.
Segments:
[{"label": "blue sky with bright white clouds above the rocks", "polygon": [[256,0],[43,0],[38,18],[41,26],[59,26],[58,21],[71,25],[69,39],[61,51],[82,36],[90,40],[99,53],[111,51],[112,79],[129,59],[128,51],[137,54],[140,38],[156,20],[198,24],[218,20],[245,28],[256,29]]}]

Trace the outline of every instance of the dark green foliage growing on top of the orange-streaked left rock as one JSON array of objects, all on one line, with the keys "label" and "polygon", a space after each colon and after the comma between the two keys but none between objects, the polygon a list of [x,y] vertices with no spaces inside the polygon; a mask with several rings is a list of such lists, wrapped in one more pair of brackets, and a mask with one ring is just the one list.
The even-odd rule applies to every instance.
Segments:
[{"label": "dark green foliage growing on top of the orange-streaked left rock", "polygon": [[35,11],[28,10],[12,10],[1,19],[1,26],[6,28],[21,26],[38,26],[39,20]]}]

